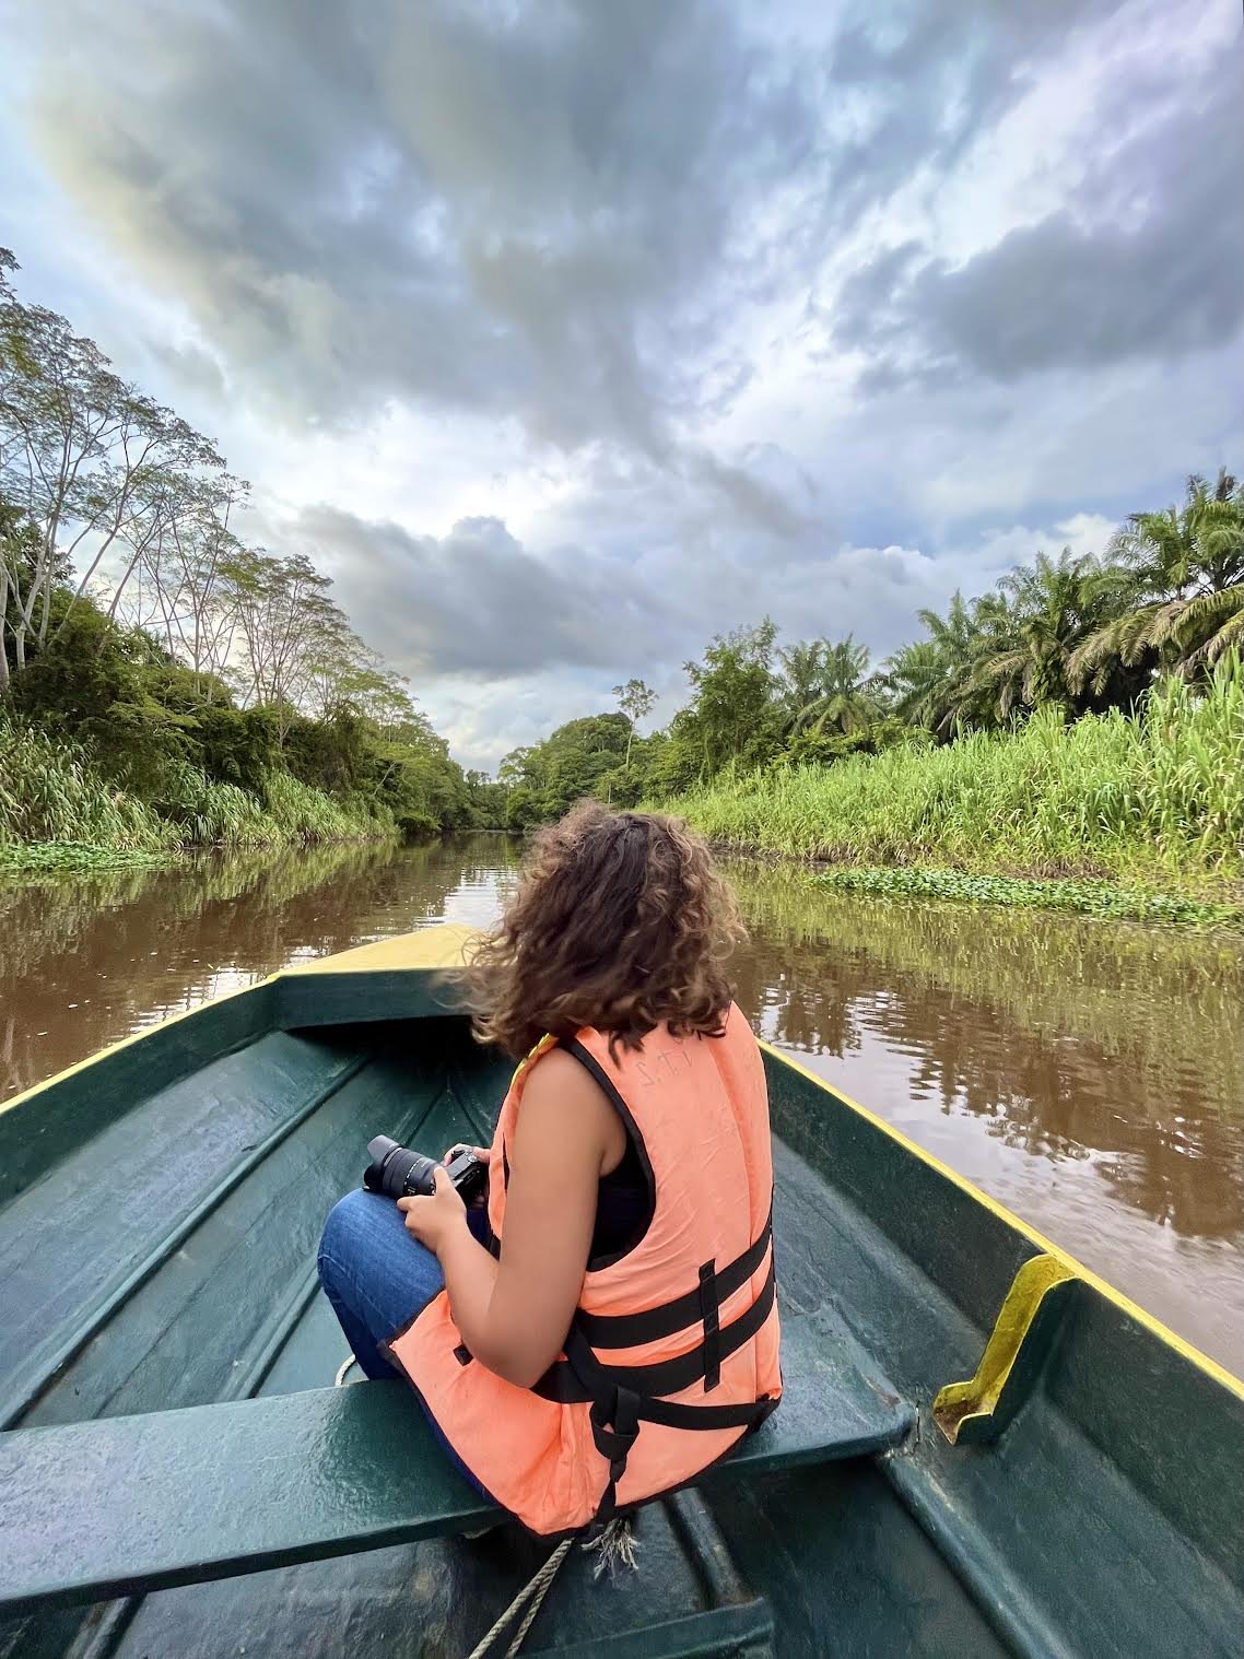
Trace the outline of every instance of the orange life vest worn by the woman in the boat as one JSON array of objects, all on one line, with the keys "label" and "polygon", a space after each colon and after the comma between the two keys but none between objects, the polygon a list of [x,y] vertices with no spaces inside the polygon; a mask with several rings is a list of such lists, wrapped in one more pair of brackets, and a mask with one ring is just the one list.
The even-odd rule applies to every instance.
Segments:
[{"label": "orange life vest worn by the woman in the boat", "polygon": [[[519,1065],[493,1138],[488,1218],[499,1253]],[[589,1262],[564,1350],[534,1389],[473,1360],[441,1291],[385,1352],[476,1480],[536,1533],[607,1520],[693,1480],[781,1395],[765,1068],[736,1007],[723,1037],[654,1030],[642,1052],[595,1030],[564,1044],[622,1117],[652,1219]]]}]

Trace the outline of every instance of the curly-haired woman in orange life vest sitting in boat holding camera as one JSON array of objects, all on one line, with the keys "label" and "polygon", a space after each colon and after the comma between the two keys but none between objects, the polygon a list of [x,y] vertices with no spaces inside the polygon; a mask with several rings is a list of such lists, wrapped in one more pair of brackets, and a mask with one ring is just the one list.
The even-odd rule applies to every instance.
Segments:
[{"label": "curly-haired woman in orange life vest sitting in boat holding camera", "polygon": [[677,820],[584,805],[542,830],[468,969],[476,1035],[521,1058],[479,1150],[486,1208],[438,1170],[435,1196],[355,1191],[328,1216],[320,1279],[360,1367],[405,1375],[537,1533],[693,1480],[781,1394],[738,937]]}]

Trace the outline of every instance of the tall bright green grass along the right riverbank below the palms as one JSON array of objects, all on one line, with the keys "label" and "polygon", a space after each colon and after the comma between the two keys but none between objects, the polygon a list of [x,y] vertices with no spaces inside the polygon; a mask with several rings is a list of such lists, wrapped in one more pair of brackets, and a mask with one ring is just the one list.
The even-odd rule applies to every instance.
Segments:
[{"label": "tall bright green grass along the right riverbank below the palms", "polygon": [[778,768],[663,803],[712,841],[843,864],[937,864],[1169,884],[1239,873],[1244,836],[1239,664],[1206,692],[1179,680],[1143,718],[1015,732],[833,766]]}]

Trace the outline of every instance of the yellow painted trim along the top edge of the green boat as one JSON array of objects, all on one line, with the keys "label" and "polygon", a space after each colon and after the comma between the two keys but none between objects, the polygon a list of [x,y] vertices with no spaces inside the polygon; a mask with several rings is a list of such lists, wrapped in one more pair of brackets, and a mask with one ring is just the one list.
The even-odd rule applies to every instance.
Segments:
[{"label": "yellow painted trim along the top edge of the green boat", "polygon": [[[378,939],[375,944],[357,946],[352,951],[340,951],[335,956],[322,956],[310,962],[297,962],[290,967],[282,967],[279,972],[270,974],[267,979],[255,980],[254,985],[239,985],[237,990],[226,990],[219,997],[212,997],[212,1002],[226,1002],[229,997],[244,997],[250,990],[255,990],[257,985],[269,985],[274,984],[275,980],[295,974],[299,975],[328,974],[328,972],[365,974],[380,971],[426,972],[435,969],[458,967],[463,962],[463,952],[468,941],[473,939],[478,932],[479,929],[468,927],[463,922],[443,922],[441,926],[436,927],[423,927],[416,932],[396,934],[391,939]],[[35,1095],[43,1093],[45,1088],[51,1088],[53,1083],[60,1083],[66,1077],[75,1077],[78,1072],[85,1072],[88,1070],[88,1067],[98,1065],[101,1060],[108,1058],[108,1055],[118,1053],[119,1050],[131,1047],[131,1044],[141,1042],[154,1030],[161,1030],[166,1025],[176,1025],[179,1020],[194,1019],[199,1009],[206,1005],[207,1004],[199,1004],[194,1009],[182,1009],[179,1014],[171,1014],[168,1019],[158,1020],[154,1025],[146,1025],[141,1032],[134,1032],[131,1037],[123,1037],[119,1042],[109,1044],[106,1048],[101,1048],[98,1053],[90,1055],[86,1060],[78,1060],[75,1065],[65,1067],[63,1072],[56,1072],[55,1077],[46,1077],[41,1083],[35,1083],[33,1088],[27,1088],[20,1095],[13,1095],[10,1100],[0,1102],[0,1112],[12,1112],[13,1107],[20,1107],[23,1102],[33,1100]],[[849,1107],[851,1112],[858,1113],[861,1118],[864,1118],[864,1121],[871,1123],[882,1135],[887,1135],[892,1141],[897,1141],[912,1155],[912,1158],[919,1158],[921,1163],[929,1165],[931,1170],[937,1170],[937,1173],[944,1176],[944,1180],[950,1181],[969,1198],[975,1199],[975,1203],[984,1204],[985,1209],[992,1211],[1007,1226],[1015,1228],[1017,1233],[1022,1233],[1023,1238],[1030,1239],[1042,1254],[1057,1258],[1057,1261],[1062,1262],[1076,1279],[1083,1279],[1085,1284],[1090,1284],[1095,1291],[1098,1291],[1100,1296],[1105,1296],[1106,1301],[1113,1302],[1121,1312],[1128,1314],[1146,1331],[1151,1331],[1153,1335],[1156,1335],[1168,1347],[1174,1349],[1176,1354],[1181,1354],[1199,1370],[1208,1372],[1208,1375],[1211,1375],[1214,1382],[1221,1384],[1224,1389],[1229,1389],[1231,1394],[1237,1395],[1239,1399],[1244,1399],[1244,1382],[1241,1382],[1239,1377],[1232,1377],[1229,1370],[1226,1370],[1216,1360],[1209,1359],[1208,1354],[1203,1354],[1201,1349],[1193,1347],[1191,1342],[1186,1342],[1181,1335],[1176,1335],[1176,1332],[1171,1331],[1169,1326],[1164,1326],[1161,1319],[1154,1319],[1153,1314],[1146,1312],[1138,1302],[1133,1302],[1131,1297],[1125,1296],[1121,1291],[1116,1291],[1113,1284],[1108,1284],[1090,1267],[1085,1267],[1083,1262],[1075,1259],[1075,1256],[1068,1256],[1067,1251],[1060,1249],[1057,1244],[1047,1239],[1043,1233],[1038,1233],[1037,1228],[1028,1226],[1027,1221],[1023,1221],[1013,1211],[1007,1209],[1005,1204],[1000,1204],[995,1198],[990,1198],[989,1193],[984,1193],[979,1186],[974,1186],[972,1181],[965,1180],[962,1175],[952,1170],[950,1165],[942,1163],[940,1158],[934,1158],[931,1151],[926,1151],[924,1146],[917,1145],[914,1140],[911,1140],[911,1136],[904,1135],[901,1130],[896,1130],[884,1118],[877,1117],[876,1112],[869,1112],[867,1107],[861,1107],[858,1100],[851,1098],[851,1095],[844,1095],[841,1088],[831,1087],[829,1083],[824,1082],[824,1078],[818,1077],[816,1072],[808,1070],[806,1065],[801,1065],[798,1060],[793,1060],[788,1053],[783,1053],[780,1048],[775,1048],[773,1044],[768,1044],[761,1039],[760,1047],[766,1053],[773,1055],[773,1058],[778,1060],[781,1065],[788,1065],[793,1072],[798,1072],[801,1077],[806,1077],[809,1083],[814,1083],[816,1088],[824,1090],[826,1095],[831,1095],[844,1107]]]}]

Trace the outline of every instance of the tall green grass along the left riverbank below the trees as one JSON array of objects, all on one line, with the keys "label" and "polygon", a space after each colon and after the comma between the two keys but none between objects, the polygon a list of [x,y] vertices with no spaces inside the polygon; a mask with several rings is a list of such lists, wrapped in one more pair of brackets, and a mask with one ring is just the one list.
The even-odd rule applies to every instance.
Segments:
[{"label": "tall green grass along the left riverbank below the trees", "polygon": [[388,813],[340,803],[290,773],[264,798],[168,760],[151,801],[104,780],[91,755],[0,713],[0,873],[85,869],[184,846],[270,848],[377,839]]}]

